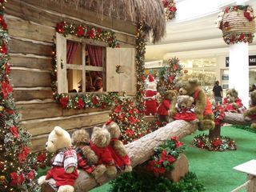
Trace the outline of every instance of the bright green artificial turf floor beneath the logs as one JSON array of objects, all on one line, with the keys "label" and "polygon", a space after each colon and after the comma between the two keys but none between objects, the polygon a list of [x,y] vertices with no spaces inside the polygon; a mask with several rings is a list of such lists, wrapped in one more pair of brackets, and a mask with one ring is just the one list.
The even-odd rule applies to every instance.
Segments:
[{"label": "bright green artificial turf floor beneath the logs", "polygon": [[[233,167],[256,159],[256,134],[233,126],[223,126],[222,136],[233,138],[238,150],[210,152],[190,146],[194,136],[202,133],[197,131],[182,139],[182,142],[186,144],[185,154],[190,163],[190,171],[194,172],[204,183],[206,192],[234,190],[246,181],[246,174],[233,170]],[[109,189],[110,184],[107,183],[90,191],[106,192]]]}]

